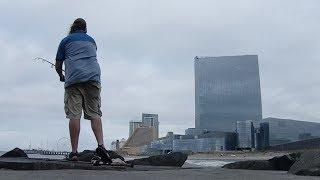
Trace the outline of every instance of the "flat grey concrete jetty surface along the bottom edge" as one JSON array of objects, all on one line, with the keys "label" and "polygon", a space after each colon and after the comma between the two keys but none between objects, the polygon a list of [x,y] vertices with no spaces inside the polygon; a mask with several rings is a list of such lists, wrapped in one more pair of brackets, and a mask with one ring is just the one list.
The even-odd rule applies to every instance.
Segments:
[{"label": "flat grey concrete jetty surface along the bottom edge", "polygon": [[[135,167],[136,168],[136,167]],[[284,171],[252,171],[223,169],[219,167],[200,169],[149,169],[148,171],[100,171],[100,170],[0,170],[0,179],[10,180],[318,180],[319,177],[296,176]]]}]

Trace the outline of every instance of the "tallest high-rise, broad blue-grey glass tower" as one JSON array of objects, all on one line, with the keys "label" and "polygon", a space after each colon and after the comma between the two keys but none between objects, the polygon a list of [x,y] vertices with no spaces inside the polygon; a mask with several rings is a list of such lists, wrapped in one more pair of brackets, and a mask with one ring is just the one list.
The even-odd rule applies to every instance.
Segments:
[{"label": "tallest high-rise, broad blue-grey glass tower", "polygon": [[262,119],[257,55],[195,57],[195,128],[234,132]]}]

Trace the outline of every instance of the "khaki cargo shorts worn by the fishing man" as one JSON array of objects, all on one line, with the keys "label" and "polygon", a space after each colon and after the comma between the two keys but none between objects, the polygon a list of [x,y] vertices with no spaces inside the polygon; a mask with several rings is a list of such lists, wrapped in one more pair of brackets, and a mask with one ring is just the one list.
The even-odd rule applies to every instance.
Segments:
[{"label": "khaki cargo shorts worn by the fishing man", "polygon": [[95,81],[72,84],[65,88],[64,110],[68,119],[80,119],[82,110],[88,120],[100,118],[101,85]]}]

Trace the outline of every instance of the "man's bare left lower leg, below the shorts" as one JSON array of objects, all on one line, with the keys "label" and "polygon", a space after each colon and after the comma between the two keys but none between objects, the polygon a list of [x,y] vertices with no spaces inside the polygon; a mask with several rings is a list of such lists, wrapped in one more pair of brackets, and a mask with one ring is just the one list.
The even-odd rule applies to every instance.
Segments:
[{"label": "man's bare left lower leg, below the shorts", "polygon": [[78,151],[78,142],[79,142],[79,134],[80,134],[80,119],[70,119],[69,133],[70,133],[72,152],[75,153]]}]

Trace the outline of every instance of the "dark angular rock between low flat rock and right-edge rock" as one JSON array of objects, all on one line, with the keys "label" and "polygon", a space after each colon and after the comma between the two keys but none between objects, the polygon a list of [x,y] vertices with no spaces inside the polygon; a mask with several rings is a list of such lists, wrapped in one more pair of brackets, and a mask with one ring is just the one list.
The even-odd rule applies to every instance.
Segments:
[{"label": "dark angular rock between low flat rock and right-edge rock", "polygon": [[271,158],[269,162],[272,164],[274,170],[288,171],[300,156],[301,153],[291,153]]}]

